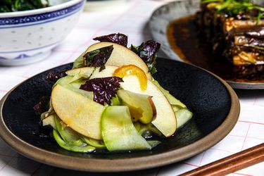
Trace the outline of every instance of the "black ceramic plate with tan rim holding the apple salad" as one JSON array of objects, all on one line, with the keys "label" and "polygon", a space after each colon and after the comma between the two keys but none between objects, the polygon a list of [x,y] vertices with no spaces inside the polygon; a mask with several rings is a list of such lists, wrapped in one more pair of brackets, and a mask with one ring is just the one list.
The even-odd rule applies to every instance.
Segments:
[{"label": "black ceramic plate with tan rim holding the apple salad", "polygon": [[205,70],[158,58],[154,78],[182,100],[194,118],[152,151],[75,153],[61,149],[39,131],[33,106],[50,95],[47,73],[71,68],[62,65],[19,84],[1,100],[0,135],[16,151],[35,161],[73,170],[115,172],[167,165],[194,156],[218,143],[239,117],[239,100],[233,89]]}]

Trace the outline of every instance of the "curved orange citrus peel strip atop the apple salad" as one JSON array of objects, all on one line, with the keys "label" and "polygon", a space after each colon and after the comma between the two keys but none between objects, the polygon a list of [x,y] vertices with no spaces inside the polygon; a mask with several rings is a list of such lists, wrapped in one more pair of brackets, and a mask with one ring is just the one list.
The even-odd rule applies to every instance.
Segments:
[{"label": "curved orange citrus peel strip atop the apple salad", "polygon": [[116,77],[125,77],[130,75],[137,76],[140,88],[142,90],[146,90],[148,79],[146,78],[144,71],[136,65],[122,65],[120,68],[115,70],[113,75]]}]

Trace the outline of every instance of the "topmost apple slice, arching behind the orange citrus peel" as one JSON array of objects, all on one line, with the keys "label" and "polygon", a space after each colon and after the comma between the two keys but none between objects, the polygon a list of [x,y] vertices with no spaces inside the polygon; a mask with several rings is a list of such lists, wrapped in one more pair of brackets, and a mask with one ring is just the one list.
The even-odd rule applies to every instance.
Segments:
[{"label": "topmost apple slice, arching behind the orange citrus peel", "polygon": [[136,65],[137,67],[144,70],[144,72],[146,73],[146,77],[148,77],[149,80],[152,80],[151,73],[149,73],[149,68],[146,65],[146,63],[144,63],[142,58],[140,58],[130,49],[127,49],[127,47],[122,46],[120,44],[115,44],[112,42],[99,42],[89,46],[89,48],[84,52],[84,54],[86,54],[89,51],[94,51],[96,49],[100,49],[111,45],[113,45],[113,52],[110,58],[108,58],[106,65],[115,65],[118,67],[122,65]]}]

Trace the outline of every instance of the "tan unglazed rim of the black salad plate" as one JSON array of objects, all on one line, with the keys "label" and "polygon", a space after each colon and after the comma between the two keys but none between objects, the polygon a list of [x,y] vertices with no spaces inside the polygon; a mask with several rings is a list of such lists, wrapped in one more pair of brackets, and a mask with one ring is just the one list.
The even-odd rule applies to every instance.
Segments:
[{"label": "tan unglazed rim of the black salad plate", "polygon": [[[196,67],[195,65],[190,66]],[[203,68],[199,69],[204,70]],[[164,153],[159,153],[151,156],[122,158],[114,160],[98,158],[78,158],[74,156],[66,156],[63,154],[46,151],[44,149],[39,149],[36,146],[32,146],[31,144],[28,144],[27,142],[24,142],[22,139],[15,136],[13,132],[8,130],[8,127],[6,127],[6,124],[4,122],[2,113],[4,102],[6,101],[8,94],[10,94],[13,89],[15,89],[15,87],[10,92],[8,92],[0,101],[0,136],[8,145],[13,147],[15,151],[18,151],[18,153],[21,153],[23,156],[32,158],[34,161],[39,161],[40,163],[72,170],[82,170],[90,172],[124,172],[155,168],[158,166],[175,163],[177,161],[182,161],[184,159],[190,158],[191,156],[195,156],[196,154],[201,153],[202,151],[205,151],[206,149],[209,149],[211,146],[220,142],[220,140],[227,136],[227,134],[232,130],[234,125],[236,125],[239,118],[239,99],[232,87],[230,87],[227,82],[222,80],[217,75],[214,75],[207,70],[204,71],[210,75],[213,75],[213,77],[219,80],[229,92],[231,99],[230,112],[228,113],[224,122],[222,122],[219,127],[213,130],[213,132],[210,132],[210,134],[206,135],[206,137],[203,137],[187,146],[183,146],[180,149],[165,151]],[[20,84],[18,84],[18,86],[19,85]]]}]

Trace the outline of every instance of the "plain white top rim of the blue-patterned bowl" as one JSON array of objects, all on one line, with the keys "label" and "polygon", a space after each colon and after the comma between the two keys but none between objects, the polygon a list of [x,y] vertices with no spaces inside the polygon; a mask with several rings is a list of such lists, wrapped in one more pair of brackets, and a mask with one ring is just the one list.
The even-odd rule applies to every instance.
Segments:
[{"label": "plain white top rim of the blue-patterned bowl", "polygon": [[85,1],[85,0],[70,0],[62,4],[56,4],[54,6],[38,8],[38,9],[30,10],[30,11],[15,11],[15,12],[0,13],[0,18],[11,18],[11,17],[17,17],[17,16],[34,15],[34,14],[39,14],[39,13],[48,13],[51,11],[57,11],[62,8],[67,8],[68,6],[73,6],[75,4],[80,3],[81,1]]}]

